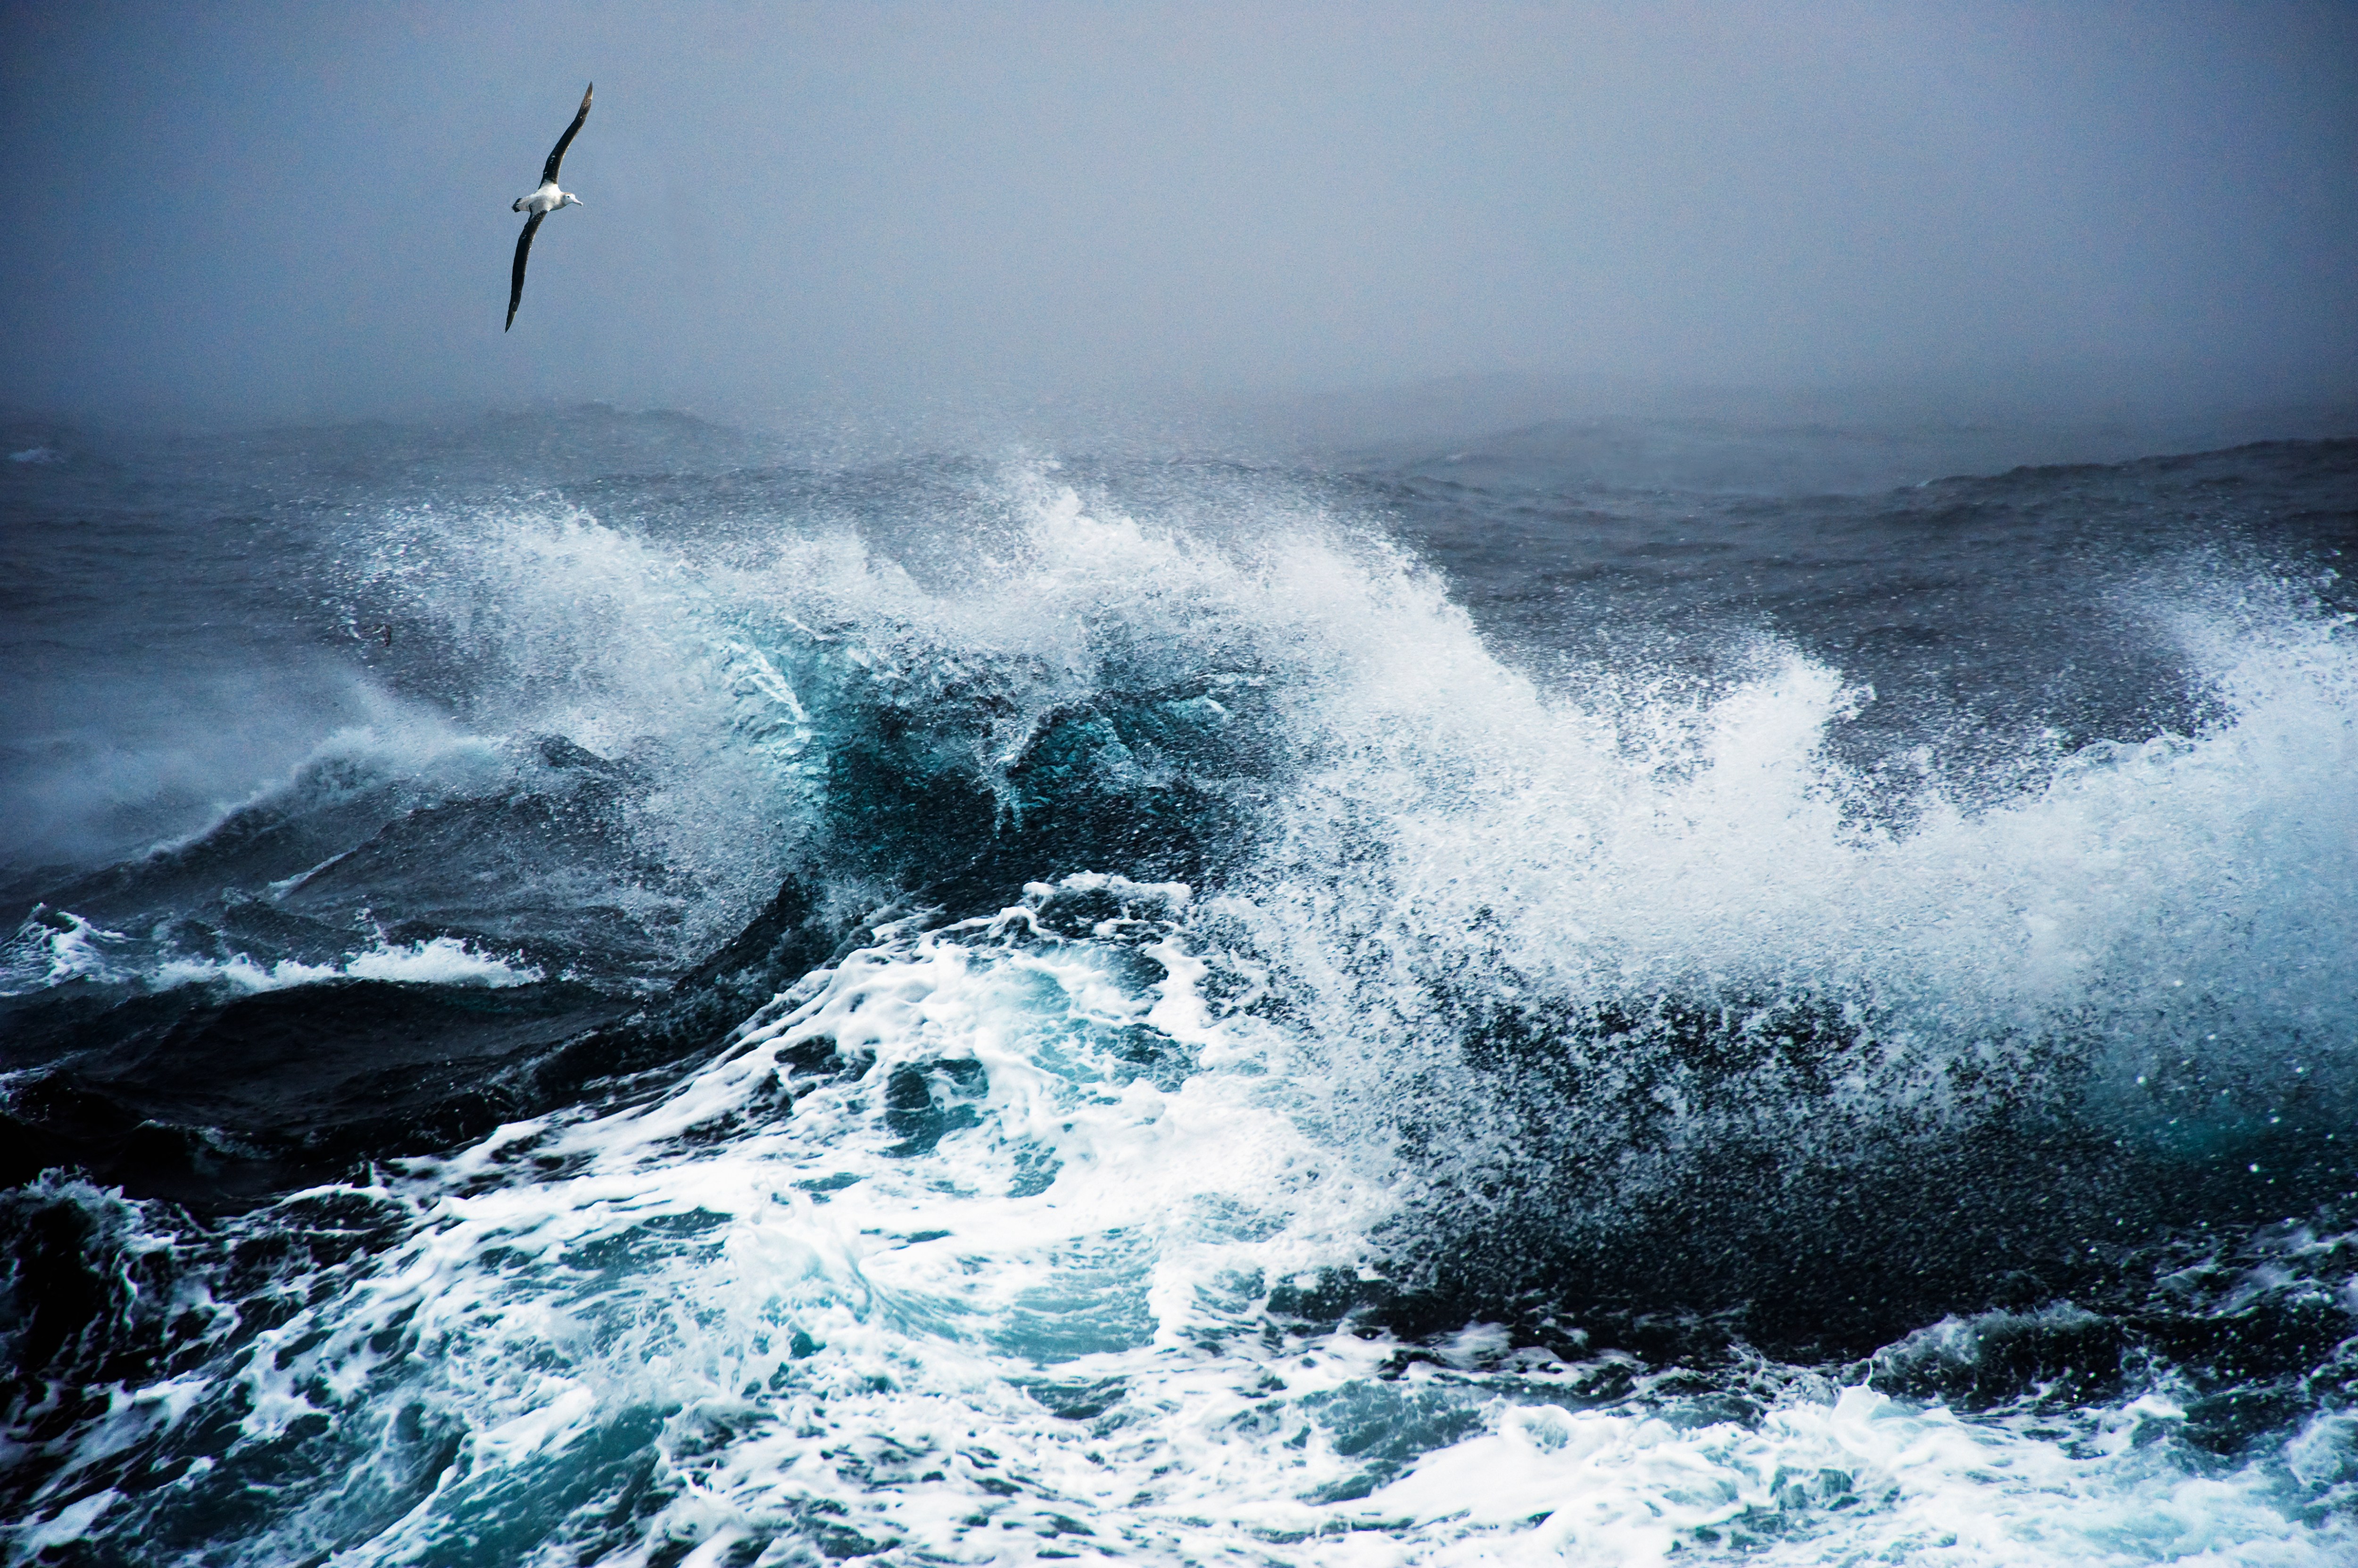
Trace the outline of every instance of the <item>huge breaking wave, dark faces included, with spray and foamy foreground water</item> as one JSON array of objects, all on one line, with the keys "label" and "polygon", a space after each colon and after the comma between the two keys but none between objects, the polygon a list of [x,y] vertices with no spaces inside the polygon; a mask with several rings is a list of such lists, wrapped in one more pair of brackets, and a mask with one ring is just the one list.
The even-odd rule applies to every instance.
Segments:
[{"label": "huge breaking wave, dark faces included, with spray and foamy foreground water", "polygon": [[943,488],[349,545],[439,738],[9,995],[608,1012],[266,1200],[14,1191],[14,1561],[2358,1547],[2344,618],[2188,578],[2212,719],[1990,797],[1243,476]]}]

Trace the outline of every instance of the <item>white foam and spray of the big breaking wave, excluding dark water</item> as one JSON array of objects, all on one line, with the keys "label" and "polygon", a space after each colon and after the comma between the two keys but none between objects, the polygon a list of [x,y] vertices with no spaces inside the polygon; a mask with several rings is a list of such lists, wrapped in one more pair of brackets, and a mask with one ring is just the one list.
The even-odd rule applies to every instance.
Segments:
[{"label": "white foam and spray of the big breaking wave, excluding dark water", "polygon": [[[1823,755],[1868,693],[1776,646],[1714,700],[1613,705],[1507,670],[1443,585],[1318,519],[1214,540],[1040,472],[1000,505],[1014,521],[936,587],[842,531],[712,564],[582,514],[467,519],[382,568],[403,613],[538,672],[493,684],[505,710],[479,722],[641,759],[639,821],[714,884],[790,868],[880,922],[660,1094],[241,1221],[377,1243],[248,1297],[229,1264],[219,1290],[182,1276],[170,1375],[54,1438],[19,1561],[2358,1549],[2330,1401],[2221,1460],[2186,1438],[2169,1368],[2066,1410],[1886,1391],[2063,1332],[2061,1304],[1714,1386],[1589,1351],[1578,1323],[1410,1342],[1351,1316],[1450,1214],[1530,1224],[1483,1198],[1528,1151],[1476,1016],[1799,995],[1839,1023],[1809,1092],[1783,1056],[1717,1101],[1660,1080],[1667,1144],[1599,1179],[1582,1224],[1622,1203],[1644,1226],[1721,1134],[1806,1165],[1839,1141],[1830,1106],[1938,1137],[2011,1085],[2122,1139],[2257,1151],[2268,1115],[2346,1125],[2346,627],[2193,613],[2214,729],[2082,752],[1995,806],[1922,783],[1898,830],[1860,809],[1889,785]],[[1188,849],[1188,877],[1042,865],[1007,903],[948,908],[957,865],[910,868],[964,832],[955,811],[854,811],[832,766],[880,710],[877,755],[979,780],[974,844],[1179,788],[1247,828]],[[941,790],[922,799],[969,799]],[[1554,1153],[1611,1160],[1620,1129],[1570,1115]],[[50,1198],[153,1252],[160,1221]],[[2358,1313],[2332,1294],[2339,1245],[2287,1240],[2235,1287]],[[264,1516],[241,1511],[252,1488]]]}]

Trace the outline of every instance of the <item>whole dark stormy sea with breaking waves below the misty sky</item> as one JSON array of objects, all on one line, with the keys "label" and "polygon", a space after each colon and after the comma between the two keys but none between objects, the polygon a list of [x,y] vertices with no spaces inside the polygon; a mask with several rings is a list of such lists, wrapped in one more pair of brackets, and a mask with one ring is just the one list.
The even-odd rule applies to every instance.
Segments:
[{"label": "whole dark stormy sea with breaking waves below the misty sky", "polygon": [[7,1563],[2358,1561],[2358,441],[0,434]]}]

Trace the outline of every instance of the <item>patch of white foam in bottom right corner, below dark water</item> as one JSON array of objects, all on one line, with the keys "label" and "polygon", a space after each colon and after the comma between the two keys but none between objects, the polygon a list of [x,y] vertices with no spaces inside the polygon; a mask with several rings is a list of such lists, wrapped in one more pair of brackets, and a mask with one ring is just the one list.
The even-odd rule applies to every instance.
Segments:
[{"label": "patch of white foam in bottom right corner, below dark water", "polygon": [[2073,1452],[2026,1436],[2028,1422],[1969,1422],[1865,1386],[1771,1410],[1757,1427],[1500,1403],[1483,1436],[1429,1455],[1368,1504],[1415,1533],[1445,1526],[1415,1554],[1431,1563],[1726,1551],[2028,1568],[2330,1563],[2358,1549],[2346,1523],[2318,1530],[2287,1516],[2264,1467],[2188,1467],[2167,1441],[2176,1417],[2136,1401],[2108,1417],[2094,1452]]}]

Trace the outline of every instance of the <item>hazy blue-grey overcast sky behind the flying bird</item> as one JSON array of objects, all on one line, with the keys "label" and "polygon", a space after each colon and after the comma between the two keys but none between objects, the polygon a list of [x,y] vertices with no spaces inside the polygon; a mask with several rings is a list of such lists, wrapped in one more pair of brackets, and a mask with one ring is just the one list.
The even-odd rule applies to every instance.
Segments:
[{"label": "hazy blue-grey overcast sky behind the flying bird", "polygon": [[2358,382],[2351,5],[0,14],[17,408]]}]

